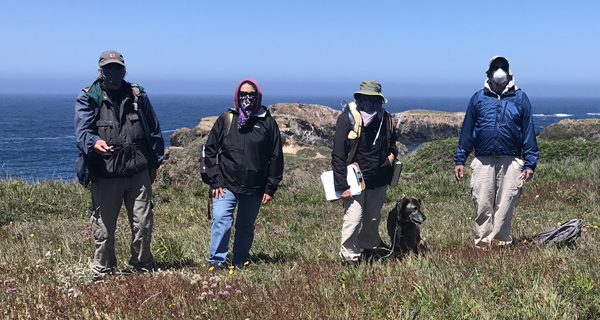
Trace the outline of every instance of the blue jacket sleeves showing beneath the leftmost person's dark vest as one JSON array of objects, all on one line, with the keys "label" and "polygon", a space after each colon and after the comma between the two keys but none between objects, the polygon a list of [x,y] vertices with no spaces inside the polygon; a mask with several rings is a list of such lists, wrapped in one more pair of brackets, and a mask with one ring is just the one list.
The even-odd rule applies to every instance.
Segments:
[{"label": "blue jacket sleeves showing beneath the leftmost person's dark vest", "polygon": [[[127,84],[129,85],[129,84]],[[75,171],[79,183],[86,186],[89,182],[88,165],[90,157],[97,157],[94,151],[96,141],[100,139],[98,135],[98,126],[96,121],[102,103],[102,89],[97,80],[92,86],[82,90],[75,102],[75,139],[79,155],[75,161]],[[152,104],[144,89],[140,87],[138,94],[138,107],[145,115],[149,129],[149,155],[148,165],[152,168],[158,168],[164,159],[164,140],[160,125]]]}]

